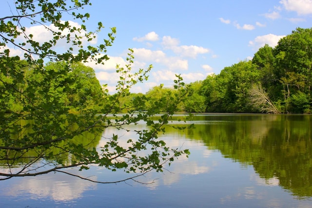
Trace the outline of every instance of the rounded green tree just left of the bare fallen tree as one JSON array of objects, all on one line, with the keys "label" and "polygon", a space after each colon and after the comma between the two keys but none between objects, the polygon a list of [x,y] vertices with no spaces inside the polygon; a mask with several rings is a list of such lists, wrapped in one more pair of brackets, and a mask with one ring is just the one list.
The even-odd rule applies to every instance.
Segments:
[{"label": "rounded green tree just left of the bare fallen tree", "polygon": [[240,61],[230,67],[225,67],[219,75],[209,77],[203,82],[203,91],[208,96],[209,103],[213,101],[216,109],[212,112],[246,113],[251,112],[249,105],[249,90],[259,80],[259,72],[251,61]]}]

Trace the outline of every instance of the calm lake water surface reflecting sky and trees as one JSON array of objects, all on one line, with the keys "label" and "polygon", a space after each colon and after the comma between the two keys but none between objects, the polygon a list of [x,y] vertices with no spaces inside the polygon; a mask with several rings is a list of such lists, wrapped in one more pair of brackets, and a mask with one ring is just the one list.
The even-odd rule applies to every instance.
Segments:
[{"label": "calm lake water surface reflecting sky and trees", "polygon": [[[312,207],[311,115],[209,114],[189,123],[195,129],[167,128],[161,138],[191,155],[139,178],[150,185],[95,184],[59,173],[13,178],[0,181],[0,207]],[[115,129],[103,136],[113,133],[133,136]],[[98,167],[82,174],[100,181],[128,176]]]}]

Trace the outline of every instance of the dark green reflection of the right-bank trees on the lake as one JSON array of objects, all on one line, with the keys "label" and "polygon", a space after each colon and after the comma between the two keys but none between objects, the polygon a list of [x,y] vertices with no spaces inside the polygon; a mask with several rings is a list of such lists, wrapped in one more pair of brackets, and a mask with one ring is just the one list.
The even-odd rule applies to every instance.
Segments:
[{"label": "dark green reflection of the right-bank trees on the lake", "polygon": [[[201,140],[224,157],[252,165],[266,181],[298,197],[312,196],[311,115],[211,115],[199,116],[209,125],[198,124],[186,136]],[[212,124],[211,120],[227,120]]]}]

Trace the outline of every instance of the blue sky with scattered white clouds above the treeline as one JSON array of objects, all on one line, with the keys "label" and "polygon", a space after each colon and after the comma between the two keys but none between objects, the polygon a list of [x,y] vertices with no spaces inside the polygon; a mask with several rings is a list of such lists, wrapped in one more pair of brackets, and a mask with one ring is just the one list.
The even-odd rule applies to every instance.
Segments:
[{"label": "blue sky with scattered white clouds above the treeline", "polygon": [[[14,0],[5,1],[0,13],[9,11]],[[91,0],[87,29],[101,21],[105,28],[92,44],[101,44],[111,27],[117,28],[110,57],[94,68],[101,84],[115,92],[119,75],[116,64],[126,64],[128,49],[134,50],[133,70],[153,65],[148,81],[131,92],[146,93],[153,86],[174,84],[176,74],[185,83],[219,74],[224,67],[252,59],[254,53],[297,27],[312,27],[312,0]],[[68,19],[64,19],[68,20]],[[79,24],[77,22],[77,24]],[[42,28],[29,30],[42,35]],[[40,32],[38,32],[40,31]],[[41,36],[40,36],[41,34]],[[59,46],[61,47],[61,46]]]}]

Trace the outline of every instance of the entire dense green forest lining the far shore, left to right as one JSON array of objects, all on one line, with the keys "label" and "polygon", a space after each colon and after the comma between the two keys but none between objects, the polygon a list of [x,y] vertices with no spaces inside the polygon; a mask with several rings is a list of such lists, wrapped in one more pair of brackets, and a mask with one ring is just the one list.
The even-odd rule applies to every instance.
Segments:
[{"label": "entire dense green forest lining the far shore, left to right", "polygon": [[[22,72],[27,81],[20,84],[17,90],[0,95],[1,106],[6,106],[9,112],[22,110],[27,96],[36,97],[36,102],[42,105],[49,103],[46,99],[58,100],[59,105],[70,106],[73,111],[85,107],[97,109],[110,96],[116,96],[104,93],[95,71],[81,63],[67,65],[65,62],[49,62],[45,66],[45,76],[39,76],[36,68],[26,63],[23,65],[23,61],[19,66],[16,70]],[[59,73],[61,71],[65,73]],[[1,72],[1,80],[14,82],[15,75],[5,73],[4,69]],[[29,87],[27,82],[38,82],[38,88],[34,88],[36,84]],[[180,104],[179,111],[311,113],[311,85],[312,28],[297,28],[292,34],[281,38],[274,48],[267,44],[260,48],[252,60],[240,61],[225,67],[218,75],[190,83],[187,86],[187,99]],[[42,91],[49,96],[41,97]],[[131,106],[129,103],[135,97],[142,96],[147,98],[145,107],[149,108],[150,103],[155,104],[157,100],[164,99],[164,95],[175,91],[177,89],[160,85],[145,95],[129,94],[119,99],[119,109],[115,111],[127,112]],[[21,95],[25,96],[24,99],[19,97]],[[158,107],[166,110],[166,106]]]}]

